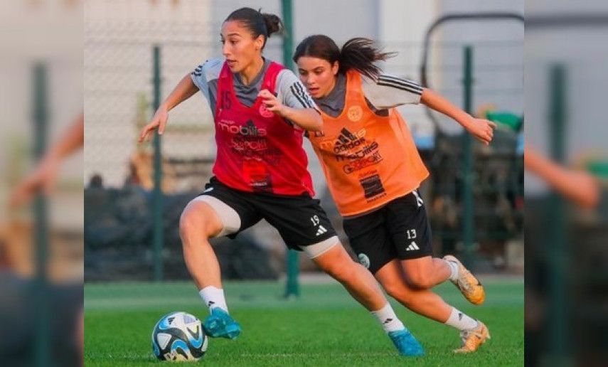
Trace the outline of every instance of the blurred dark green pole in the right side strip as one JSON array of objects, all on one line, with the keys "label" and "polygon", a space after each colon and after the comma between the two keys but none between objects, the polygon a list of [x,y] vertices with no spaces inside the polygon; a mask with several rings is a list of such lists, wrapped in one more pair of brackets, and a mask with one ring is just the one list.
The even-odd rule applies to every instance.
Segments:
[{"label": "blurred dark green pole in the right side strip", "polygon": [[[557,162],[565,159],[565,124],[566,124],[566,92],[565,68],[563,65],[553,65],[550,69],[550,154]],[[550,243],[549,259],[549,338],[548,349],[551,351],[550,359],[559,362],[553,366],[568,366],[570,363],[570,341],[568,339],[568,282],[567,282],[567,231],[565,220],[565,207],[562,198],[557,193],[551,193],[548,223],[552,223],[548,233]]]}]

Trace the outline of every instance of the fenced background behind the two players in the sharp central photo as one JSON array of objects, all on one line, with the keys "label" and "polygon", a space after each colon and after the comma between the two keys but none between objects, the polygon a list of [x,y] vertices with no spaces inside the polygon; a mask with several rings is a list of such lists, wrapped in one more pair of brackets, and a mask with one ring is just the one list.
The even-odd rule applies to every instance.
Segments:
[{"label": "fenced background behind the two players in the sharp central photo", "polygon": [[[284,13],[287,3],[291,21]],[[290,59],[291,49],[313,33],[325,33],[338,45],[366,36],[398,51],[383,65],[386,72],[425,78],[471,113],[494,114],[500,128],[491,147],[482,147],[466,140],[456,122],[422,106],[402,108],[432,171],[424,196],[436,254],[464,256],[479,272],[523,274],[523,1],[133,0],[85,3],[87,282],[189,279],[178,219],[213,166],[213,119],[206,100],[198,93],[173,110],[159,144],[138,145],[137,136],[154,111],[156,92],[166,97],[183,75],[221,57],[221,23],[241,6],[278,14],[292,28],[288,38],[270,38],[267,58],[289,66],[284,54]],[[502,15],[451,18],[425,38],[442,16],[480,12]],[[340,229],[308,142],[306,149],[317,196]],[[156,186],[155,167],[162,171]],[[346,241],[342,233],[341,238]],[[216,242],[226,279],[282,281],[295,274],[282,240],[267,223],[237,240]],[[304,256],[297,262],[302,273],[316,271]]]}]

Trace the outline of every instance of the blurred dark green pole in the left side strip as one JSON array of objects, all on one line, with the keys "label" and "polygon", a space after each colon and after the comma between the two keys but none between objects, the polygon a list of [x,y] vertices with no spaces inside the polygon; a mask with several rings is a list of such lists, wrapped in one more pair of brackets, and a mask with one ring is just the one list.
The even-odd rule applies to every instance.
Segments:
[{"label": "blurred dark green pole in the left side strip", "polygon": [[[40,161],[45,152],[48,137],[47,69],[43,63],[33,67],[33,135],[34,156]],[[33,202],[36,246],[36,366],[50,366],[50,314],[48,302],[48,216],[46,198],[38,192]]]}]

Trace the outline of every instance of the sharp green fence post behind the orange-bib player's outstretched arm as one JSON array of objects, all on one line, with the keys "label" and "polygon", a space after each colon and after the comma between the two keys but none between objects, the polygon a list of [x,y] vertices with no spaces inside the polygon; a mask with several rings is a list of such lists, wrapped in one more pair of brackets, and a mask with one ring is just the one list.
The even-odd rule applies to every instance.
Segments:
[{"label": "sharp green fence post behind the orange-bib player's outstretched arm", "polygon": [[[464,78],[462,80],[464,86],[463,108],[469,114],[473,110],[473,48],[471,46],[464,47]],[[469,268],[474,268],[474,207],[473,207],[473,151],[472,138],[468,132],[463,132],[462,136],[462,176],[463,176],[463,193],[462,193],[462,243],[464,245],[464,263]]]}]

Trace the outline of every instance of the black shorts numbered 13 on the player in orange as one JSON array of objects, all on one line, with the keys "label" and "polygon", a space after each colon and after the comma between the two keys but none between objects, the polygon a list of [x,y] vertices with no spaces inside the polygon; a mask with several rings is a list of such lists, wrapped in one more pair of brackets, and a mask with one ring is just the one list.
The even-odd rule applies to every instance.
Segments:
[{"label": "black shorts numbered 13 on the player in orange", "polygon": [[372,274],[395,258],[432,255],[431,228],[417,193],[396,198],[363,216],[345,218],[344,232],[359,262]]}]

